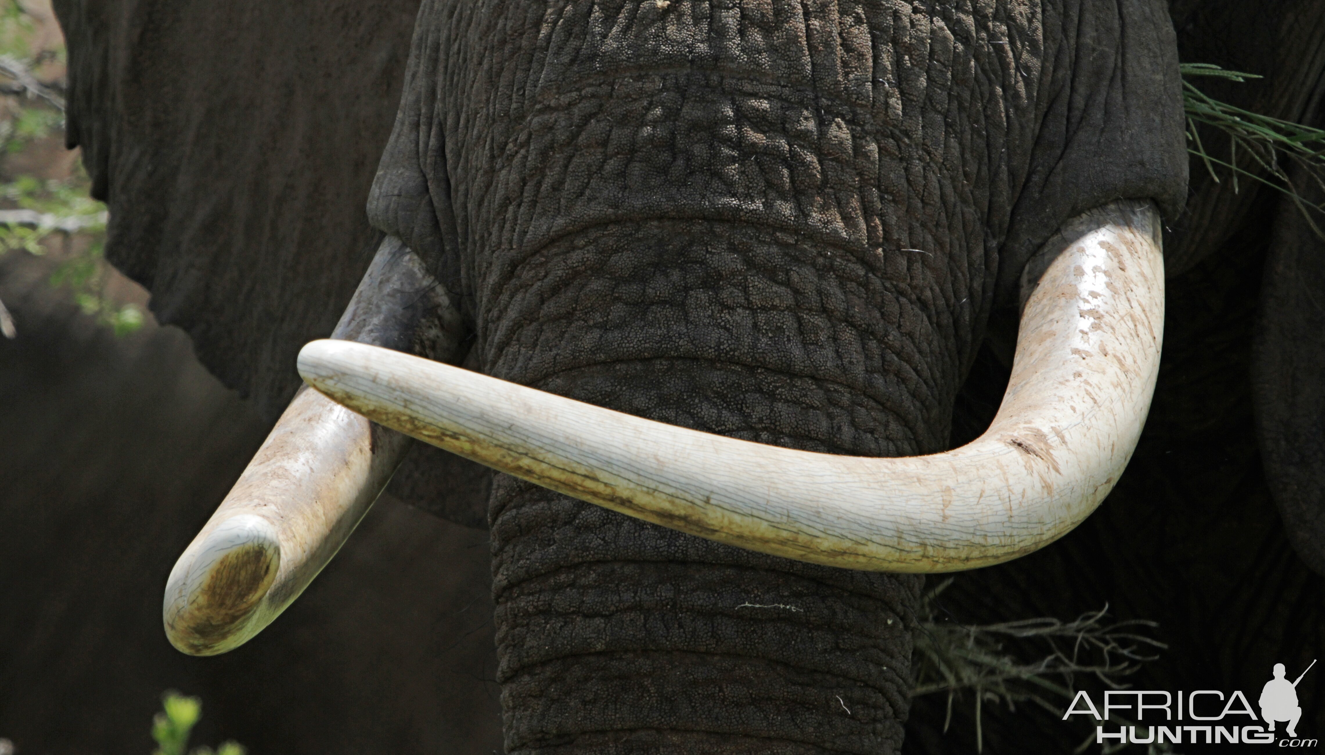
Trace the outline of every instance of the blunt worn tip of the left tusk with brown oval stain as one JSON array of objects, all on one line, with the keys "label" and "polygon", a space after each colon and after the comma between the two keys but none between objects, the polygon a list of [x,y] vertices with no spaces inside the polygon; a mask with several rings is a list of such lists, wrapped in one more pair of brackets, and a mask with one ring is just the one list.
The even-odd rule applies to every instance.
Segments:
[{"label": "blunt worn tip of the left tusk with brown oval stain", "polygon": [[219,525],[175,564],[163,619],[171,645],[216,656],[246,642],[281,567],[281,543],[266,519],[241,514]]}]

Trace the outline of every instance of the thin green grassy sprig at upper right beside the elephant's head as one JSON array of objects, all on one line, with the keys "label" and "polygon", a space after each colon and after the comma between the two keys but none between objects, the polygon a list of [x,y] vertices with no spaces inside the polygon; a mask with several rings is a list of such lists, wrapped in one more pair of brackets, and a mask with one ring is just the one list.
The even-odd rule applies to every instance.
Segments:
[{"label": "thin green grassy sprig at upper right beside the elephant's head", "polygon": [[[1187,114],[1187,148],[1202,159],[1210,177],[1219,183],[1218,166],[1232,177],[1235,192],[1239,189],[1239,177],[1260,181],[1284,192],[1293,200],[1317,236],[1325,238],[1325,233],[1317,225],[1320,216],[1325,215],[1325,204],[1304,199],[1304,187],[1298,185],[1308,183],[1325,188],[1325,131],[1219,102],[1190,81],[1198,77],[1215,77],[1242,83],[1261,78],[1259,76],[1224,70],[1210,64],[1183,64],[1181,68],[1183,109]],[[1200,125],[1216,128],[1228,139],[1227,160],[1206,150],[1198,128]],[[1300,168],[1297,183],[1291,174],[1293,166]]]}]

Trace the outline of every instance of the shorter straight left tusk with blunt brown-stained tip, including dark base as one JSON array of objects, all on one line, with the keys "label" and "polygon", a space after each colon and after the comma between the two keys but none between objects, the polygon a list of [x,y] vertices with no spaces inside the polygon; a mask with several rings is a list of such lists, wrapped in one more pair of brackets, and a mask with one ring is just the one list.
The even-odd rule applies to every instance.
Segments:
[{"label": "shorter straight left tusk with blunt brown-stained tip, including dark base", "polygon": [[[458,332],[458,315],[417,257],[387,238],[333,336],[452,358]],[[171,644],[215,656],[261,632],[341,550],[409,442],[301,389],[171,570]]]}]

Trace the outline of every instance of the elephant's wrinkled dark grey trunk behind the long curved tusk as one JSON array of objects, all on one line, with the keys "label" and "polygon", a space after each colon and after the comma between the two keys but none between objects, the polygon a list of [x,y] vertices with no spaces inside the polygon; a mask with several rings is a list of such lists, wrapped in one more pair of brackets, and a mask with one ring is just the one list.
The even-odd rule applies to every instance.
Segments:
[{"label": "elephant's wrinkled dark grey trunk behind the long curved tusk", "polygon": [[[921,396],[939,393],[934,407],[871,385],[902,379],[855,362],[886,352],[869,342],[881,328],[865,344],[844,343],[833,321],[851,317],[849,305],[798,307],[798,295],[833,287],[816,265],[849,269],[853,260],[791,234],[706,221],[612,224],[541,257],[559,254],[588,277],[555,290],[558,281],[517,270],[497,305],[505,314],[484,328],[490,375],[800,450],[921,453],[946,434],[931,427],[945,420],[942,366],[918,381],[928,383]],[[603,290],[600,309],[562,309]],[[530,307],[535,318],[515,317]],[[925,362],[916,352],[901,360]],[[489,517],[509,752],[864,754],[900,744],[920,579],[751,552],[505,474]]]}]

